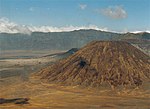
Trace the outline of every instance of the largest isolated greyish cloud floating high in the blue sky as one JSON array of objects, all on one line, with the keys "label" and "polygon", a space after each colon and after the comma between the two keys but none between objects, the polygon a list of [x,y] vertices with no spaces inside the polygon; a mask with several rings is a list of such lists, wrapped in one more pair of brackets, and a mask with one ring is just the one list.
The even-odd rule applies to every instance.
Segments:
[{"label": "largest isolated greyish cloud floating high in the blue sky", "polygon": [[122,6],[111,6],[104,9],[97,9],[96,11],[111,19],[124,19],[127,17],[127,12]]}]

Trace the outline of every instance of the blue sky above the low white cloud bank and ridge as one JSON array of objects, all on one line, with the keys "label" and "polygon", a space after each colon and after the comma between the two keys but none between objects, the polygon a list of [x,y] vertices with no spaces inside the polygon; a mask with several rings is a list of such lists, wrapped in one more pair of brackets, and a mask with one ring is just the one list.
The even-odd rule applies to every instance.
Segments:
[{"label": "blue sky above the low white cloud bank and ridge", "polygon": [[150,31],[150,0],[0,0],[0,19],[2,29],[12,23]]}]

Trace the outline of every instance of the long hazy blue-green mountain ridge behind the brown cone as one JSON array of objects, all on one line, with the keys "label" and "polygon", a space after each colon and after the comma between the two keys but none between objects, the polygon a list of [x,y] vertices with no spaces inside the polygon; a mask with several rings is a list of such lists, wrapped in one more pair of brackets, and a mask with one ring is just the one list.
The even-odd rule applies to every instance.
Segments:
[{"label": "long hazy blue-green mountain ridge behind the brown cone", "polygon": [[80,48],[94,40],[144,40],[150,42],[150,33],[112,33],[98,30],[71,32],[33,32],[31,35],[0,33],[1,50],[68,50]]}]

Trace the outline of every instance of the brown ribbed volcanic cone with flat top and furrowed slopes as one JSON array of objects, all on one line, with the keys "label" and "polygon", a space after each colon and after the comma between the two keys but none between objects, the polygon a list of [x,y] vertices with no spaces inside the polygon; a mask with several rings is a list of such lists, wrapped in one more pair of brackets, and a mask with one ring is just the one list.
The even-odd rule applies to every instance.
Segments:
[{"label": "brown ribbed volcanic cone with flat top and furrowed slopes", "polygon": [[61,85],[136,88],[150,80],[150,57],[123,41],[94,41],[36,74]]}]

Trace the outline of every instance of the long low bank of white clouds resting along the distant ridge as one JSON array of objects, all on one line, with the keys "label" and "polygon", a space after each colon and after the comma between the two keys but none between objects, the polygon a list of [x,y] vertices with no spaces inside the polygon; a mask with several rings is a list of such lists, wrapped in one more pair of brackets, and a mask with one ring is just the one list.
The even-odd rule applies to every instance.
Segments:
[{"label": "long low bank of white clouds resting along the distant ridge", "polygon": [[80,29],[95,29],[101,31],[108,31],[107,28],[100,28],[96,25],[88,26],[65,26],[65,27],[53,27],[53,26],[26,26],[19,25],[17,23],[9,21],[7,18],[0,18],[0,33],[23,33],[31,34],[32,32],[64,32],[74,31]]}]

